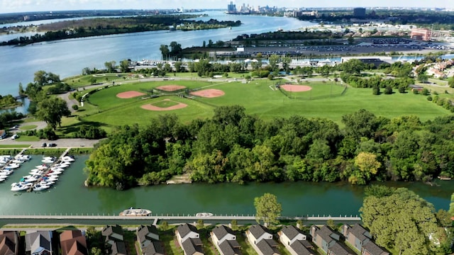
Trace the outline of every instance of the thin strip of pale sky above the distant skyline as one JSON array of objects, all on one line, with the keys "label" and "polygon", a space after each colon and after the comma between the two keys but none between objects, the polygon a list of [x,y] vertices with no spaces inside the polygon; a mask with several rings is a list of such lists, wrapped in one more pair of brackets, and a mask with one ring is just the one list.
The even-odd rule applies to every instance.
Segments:
[{"label": "thin strip of pale sky above the distant skyline", "polygon": [[[0,13],[101,9],[227,8],[230,0],[0,0]],[[250,6],[278,7],[427,7],[454,9],[453,0],[236,0]]]}]

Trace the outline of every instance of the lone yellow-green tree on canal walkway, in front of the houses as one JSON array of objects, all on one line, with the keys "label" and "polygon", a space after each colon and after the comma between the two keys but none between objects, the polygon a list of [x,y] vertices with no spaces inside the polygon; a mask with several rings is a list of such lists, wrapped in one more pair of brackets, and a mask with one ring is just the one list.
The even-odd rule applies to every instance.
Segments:
[{"label": "lone yellow-green tree on canal walkway, in front of the houses", "polygon": [[254,198],[254,206],[257,211],[255,220],[260,224],[263,221],[265,225],[277,224],[277,218],[282,212],[282,205],[277,202],[277,197],[271,193],[265,193],[261,197]]}]

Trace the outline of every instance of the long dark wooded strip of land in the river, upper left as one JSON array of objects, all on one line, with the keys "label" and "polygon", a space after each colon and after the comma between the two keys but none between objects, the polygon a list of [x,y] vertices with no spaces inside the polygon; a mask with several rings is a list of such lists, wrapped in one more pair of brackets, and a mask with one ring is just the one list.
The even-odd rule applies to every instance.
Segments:
[{"label": "long dark wooded strip of land in the river, upper left", "polygon": [[124,33],[138,33],[155,30],[205,30],[240,26],[240,21],[209,21],[195,20],[198,16],[189,14],[180,15],[153,15],[133,16],[121,18],[85,18],[81,20],[60,21],[38,26],[38,31],[31,36],[21,36],[1,45],[28,45],[35,42],[52,40],[87,38],[99,35],[113,35]]}]

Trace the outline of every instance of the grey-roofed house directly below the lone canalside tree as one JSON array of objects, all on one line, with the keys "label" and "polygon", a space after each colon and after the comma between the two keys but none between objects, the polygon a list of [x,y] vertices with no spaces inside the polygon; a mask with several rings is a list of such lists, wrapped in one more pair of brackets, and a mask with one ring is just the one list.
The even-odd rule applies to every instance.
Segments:
[{"label": "grey-roofed house directly below the lone canalside tree", "polygon": [[259,255],[278,255],[277,242],[272,239],[272,234],[262,225],[254,225],[246,231],[248,242]]}]

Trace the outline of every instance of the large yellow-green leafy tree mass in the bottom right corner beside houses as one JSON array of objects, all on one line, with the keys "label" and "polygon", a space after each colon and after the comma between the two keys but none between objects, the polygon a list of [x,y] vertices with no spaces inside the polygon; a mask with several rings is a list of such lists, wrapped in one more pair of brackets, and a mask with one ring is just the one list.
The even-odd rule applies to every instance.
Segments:
[{"label": "large yellow-green leafy tree mass in the bottom right corner beside houses", "polygon": [[399,254],[435,254],[431,239],[442,241],[433,205],[406,188],[380,198],[367,196],[360,212],[377,244]]}]

